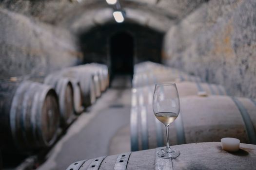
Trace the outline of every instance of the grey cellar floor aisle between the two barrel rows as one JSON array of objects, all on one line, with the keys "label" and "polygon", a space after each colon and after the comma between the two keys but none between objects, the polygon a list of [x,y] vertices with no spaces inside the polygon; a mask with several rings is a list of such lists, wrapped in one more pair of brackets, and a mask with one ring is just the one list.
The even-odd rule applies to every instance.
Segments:
[{"label": "grey cellar floor aisle between the two barrel rows", "polygon": [[38,170],[65,170],[78,160],[130,151],[130,80],[115,77],[111,88],[69,127]]}]

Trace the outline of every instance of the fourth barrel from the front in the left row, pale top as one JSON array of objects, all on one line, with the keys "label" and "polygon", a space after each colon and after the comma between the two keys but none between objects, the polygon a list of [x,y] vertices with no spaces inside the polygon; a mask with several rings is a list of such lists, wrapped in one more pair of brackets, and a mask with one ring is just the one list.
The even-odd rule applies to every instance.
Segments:
[{"label": "fourth barrel from the front in the left row, pale top", "polygon": [[96,101],[97,92],[99,93],[99,82],[95,83],[95,76],[86,69],[79,67],[67,68],[60,73],[63,77],[69,77],[78,80],[81,92],[83,105],[89,106]]}]

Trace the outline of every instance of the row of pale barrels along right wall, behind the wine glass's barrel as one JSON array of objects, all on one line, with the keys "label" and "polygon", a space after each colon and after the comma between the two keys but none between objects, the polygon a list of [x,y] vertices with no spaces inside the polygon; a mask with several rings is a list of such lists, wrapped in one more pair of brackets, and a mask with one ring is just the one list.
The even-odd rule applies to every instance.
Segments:
[{"label": "row of pale barrels along right wall, behind the wine glass's barrel", "polygon": [[132,151],[165,145],[165,127],[153,113],[156,83],[176,83],[180,114],[170,126],[172,145],[219,141],[236,137],[243,143],[256,144],[256,101],[233,97],[222,85],[208,84],[195,75],[157,63],[135,66],[132,108]]}]

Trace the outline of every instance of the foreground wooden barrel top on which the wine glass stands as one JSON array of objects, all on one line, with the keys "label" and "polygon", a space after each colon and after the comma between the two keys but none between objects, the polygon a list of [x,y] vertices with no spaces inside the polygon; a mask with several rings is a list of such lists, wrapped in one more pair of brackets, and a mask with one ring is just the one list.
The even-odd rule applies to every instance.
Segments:
[{"label": "foreground wooden barrel top on which the wine glass stands", "polygon": [[138,152],[101,156],[72,163],[66,170],[255,170],[256,145],[240,144],[240,150],[229,153],[220,142],[176,145],[176,159],[159,158],[156,148]]}]

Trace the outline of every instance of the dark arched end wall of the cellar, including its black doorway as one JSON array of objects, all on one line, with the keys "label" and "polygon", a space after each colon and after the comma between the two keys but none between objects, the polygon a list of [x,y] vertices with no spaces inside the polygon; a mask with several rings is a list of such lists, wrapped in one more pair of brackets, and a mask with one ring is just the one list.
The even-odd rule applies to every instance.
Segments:
[{"label": "dark arched end wall of the cellar, including its black doorway", "polygon": [[100,62],[115,74],[133,74],[139,62],[161,62],[164,33],[132,21],[106,23],[79,34],[83,62]]}]

